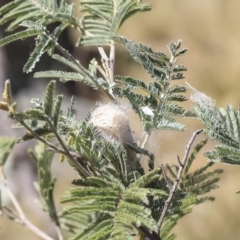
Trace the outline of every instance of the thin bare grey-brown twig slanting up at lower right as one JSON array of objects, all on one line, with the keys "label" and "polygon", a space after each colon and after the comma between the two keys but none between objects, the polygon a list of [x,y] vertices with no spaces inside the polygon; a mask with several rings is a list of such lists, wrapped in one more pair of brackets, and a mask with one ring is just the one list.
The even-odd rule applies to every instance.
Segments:
[{"label": "thin bare grey-brown twig slanting up at lower right", "polygon": [[188,142],[187,146],[185,147],[185,154],[184,154],[184,157],[183,157],[182,161],[180,161],[180,166],[179,166],[177,178],[176,178],[175,182],[173,183],[173,186],[171,188],[171,191],[169,193],[169,196],[168,196],[167,200],[165,201],[165,204],[164,204],[161,216],[160,216],[160,218],[158,220],[158,223],[157,223],[158,227],[159,227],[159,232],[160,232],[160,229],[161,229],[164,217],[165,217],[165,215],[167,213],[167,210],[169,208],[169,205],[170,205],[170,203],[172,201],[173,195],[174,195],[175,191],[177,190],[177,187],[178,187],[179,181],[181,179],[184,167],[185,167],[185,165],[187,163],[187,159],[188,159],[188,155],[189,155],[191,146],[192,146],[196,136],[198,134],[200,134],[201,132],[202,132],[202,129],[197,130],[196,132],[194,132],[192,137],[191,137],[191,139],[190,139],[190,141]]}]

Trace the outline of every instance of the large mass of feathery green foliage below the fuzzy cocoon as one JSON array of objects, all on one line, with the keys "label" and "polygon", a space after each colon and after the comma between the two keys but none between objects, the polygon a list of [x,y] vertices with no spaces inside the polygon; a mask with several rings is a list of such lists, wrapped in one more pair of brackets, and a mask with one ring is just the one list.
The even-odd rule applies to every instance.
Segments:
[{"label": "large mass of feathery green foliage below the fuzzy cocoon", "polygon": [[[167,166],[163,173],[162,168],[154,168],[153,156],[148,151],[133,146],[137,153],[149,156],[149,171],[140,165],[130,170],[124,146],[104,139],[88,119],[75,120],[74,98],[64,114],[62,96],[55,97],[55,88],[56,82],[51,81],[43,97],[33,99],[34,106],[25,111],[11,110],[10,105],[9,117],[27,130],[18,142],[36,138],[43,143],[31,153],[38,165],[43,209],[58,226],[74,234],[72,239],[134,239],[137,236],[174,239],[171,230],[177,221],[191,212],[193,205],[213,200],[203,194],[217,187],[218,174],[222,171],[208,171],[210,163],[189,172],[196,154],[206,143],[203,141],[189,157],[179,189],[159,229],[159,216],[179,166]],[[5,90],[4,99],[12,104],[7,92]],[[52,195],[55,183],[50,173],[52,152],[61,153],[78,173],[73,181],[75,188],[62,199],[71,205],[60,216]]]}]

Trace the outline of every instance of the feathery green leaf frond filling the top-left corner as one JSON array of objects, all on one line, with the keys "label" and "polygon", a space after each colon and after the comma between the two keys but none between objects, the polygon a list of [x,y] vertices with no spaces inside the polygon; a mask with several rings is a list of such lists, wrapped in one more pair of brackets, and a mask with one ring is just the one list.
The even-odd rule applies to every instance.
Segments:
[{"label": "feathery green leaf frond filling the top-left corner", "polygon": [[43,26],[60,22],[61,25],[55,29],[59,35],[68,25],[80,26],[73,13],[74,4],[64,0],[15,0],[0,8],[0,24],[9,23],[6,30],[10,32],[24,21],[34,21]]}]

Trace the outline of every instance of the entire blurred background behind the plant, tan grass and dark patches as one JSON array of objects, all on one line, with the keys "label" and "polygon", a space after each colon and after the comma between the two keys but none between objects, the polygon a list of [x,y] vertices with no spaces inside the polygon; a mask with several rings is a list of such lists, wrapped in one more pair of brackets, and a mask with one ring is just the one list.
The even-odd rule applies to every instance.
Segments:
[{"label": "entire blurred background behind the plant, tan grass and dark patches", "polygon": [[[0,6],[6,2],[1,0]],[[240,105],[240,2],[237,0],[149,0],[148,2],[153,4],[152,11],[135,15],[123,25],[119,34],[163,52],[167,52],[166,45],[172,40],[182,39],[183,47],[189,48],[189,52],[179,59],[179,64],[185,65],[188,71],[185,73],[186,79],[179,83],[185,84],[187,81],[194,88],[215,99],[218,107],[232,103],[237,108]],[[0,36],[5,36],[2,26]],[[98,53],[94,48],[74,49],[78,37],[74,30],[69,29],[60,38],[60,44],[87,66],[93,57],[98,56]],[[43,79],[33,79],[32,74],[22,73],[22,67],[33,49],[33,40],[12,43],[0,49],[0,92],[5,79],[10,79],[19,109],[29,106],[31,97],[41,96],[48,82]],[[151,80],[121,46],[118,46],[116,56],[116,74]],[[65,70],[63,66],[43,56],[36,66],[36,71],[50,68]],[[66,106],[69,105],[72,95],[77,96],[79,119],[83,119],[94,109],[96,101],[106,102],[98,92],[82,84],[58,83],[58,91],[65,94]],[[191,104],[185,106],[190,108]],[[21,135],[20,131],[10,128],[12,123],[7,120],[3,112],[0,112],[0,119],[1,135]],[[144,134],[134,114],[131,114],[130,122],[134,126],[135,140],[142,141]],[[147,147],[156,154],[157,164],[177,163],[177,155],[181,158],[184,154],[184,144],[188,142],[192,132],[201,127],[197,121],[184,120],[184,122],[188,124],[185,133],[155,132],[152,135]],[[203,138],[204,136],[198,140]],[[38,197],[32,185],[36,180],[36,169],[26,154],[26,149],[33,144],[28,142],[18,145],[6,170],[14,194],[20,200],[26,215],[39,228],[54,236],[55,229],[34,203],[34,199]],[[213,146],[209,141],[204,151]],[[203,166],[206,162],[207,159],[201,153],[194,167]],[[240,170],[222,164],[216,164],[215,167],[224,169],[219,183],[220,188],[211,193],[216,197],[216,201],[194,207],[192,213],[178,222],[174,228],[178,240],[240,239],[238,211],[240,196],[235,194],[240,190]],[[66,163],[60,164],[56,159],[53,174],[59,178],[55,191],[57,202],[70,187],[75,173]],[[7,198],[5,201],[7,202]],[[58,206],[60,209],[61,206]],[[38,240],[39,238],[26,228],[0,217],[0,239]]]}]

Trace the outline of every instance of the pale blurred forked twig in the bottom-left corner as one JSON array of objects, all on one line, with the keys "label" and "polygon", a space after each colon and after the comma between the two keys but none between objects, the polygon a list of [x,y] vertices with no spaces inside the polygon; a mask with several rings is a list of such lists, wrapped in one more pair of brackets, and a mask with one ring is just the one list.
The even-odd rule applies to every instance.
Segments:
[{"label": "pale blurred forked twig in the bottom-left corner", "polygon": [[13,206],[15,207],[17,213],[18,213],[18,218],[13,218],[13,220],[23,226],[25,226],[26,228],[30,229],[32,232],[34,232],[36,235],[38,235],[39,237],[41,237],[44,240],[54,240],[53,238],[51,238],[50,236],[48,236],[46,233],[42,232],[39,228],[37,228],[35,225],[33,225],[25,216],[18,200],[16,199],[16,197],[14,196],[14,194],[12,193],[11,189],[8,186],[8,182],[4,176],[4,173],[1,172],[1,180],[3,182],[3,186],[10,198],[10,200],[12,201]]}]

